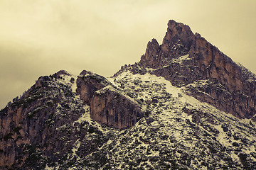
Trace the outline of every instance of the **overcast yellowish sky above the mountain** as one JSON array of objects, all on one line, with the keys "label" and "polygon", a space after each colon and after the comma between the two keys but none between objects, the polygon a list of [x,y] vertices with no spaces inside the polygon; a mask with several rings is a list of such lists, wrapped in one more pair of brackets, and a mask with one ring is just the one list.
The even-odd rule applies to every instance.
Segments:
[{"label": "overcast yellowish sky above the mountain", "polygon": [[256,73],[255,0],[0,0],[0,109],[38,77],[134,64],[170,19]]}]

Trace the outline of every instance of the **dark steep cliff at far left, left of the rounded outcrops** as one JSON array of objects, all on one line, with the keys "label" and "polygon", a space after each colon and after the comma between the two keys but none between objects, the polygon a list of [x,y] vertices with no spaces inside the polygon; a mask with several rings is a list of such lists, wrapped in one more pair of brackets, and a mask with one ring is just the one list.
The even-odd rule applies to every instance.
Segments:
[{"label": "dark steep cliff at far left, left of the rounded outcrops", "polygon": [[[63,81],[63,77],[68,80]],[[1,111],[1,168],[42,169],[48,157],[55,162],[79,138],[72,123],[85,110],[82,101],[74,99],[70,79],[70,75],[61,72],[41,77],[20,99]],[[63,125],[69,130],[65,131]],[[73,140],[68,142],[70,138]]]}]

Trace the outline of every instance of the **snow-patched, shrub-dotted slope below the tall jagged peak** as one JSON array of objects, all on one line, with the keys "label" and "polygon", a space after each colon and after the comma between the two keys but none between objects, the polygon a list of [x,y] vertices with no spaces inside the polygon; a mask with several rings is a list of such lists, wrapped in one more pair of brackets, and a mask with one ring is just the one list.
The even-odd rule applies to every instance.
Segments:
[{"label": "snow-patched, shrub-dotted slope below the tall jagged peak", "polygon": [[[102,127],[89,120],[108,139],[97,152],[77,155],[70,169],[255,168],[256,129],[251,121],[187,96],[162,77],[128,71],[109,80],[142,106],[145,117],[127,130]],[[79,122],[87,123],[88,117],[82,118]],[[73,151],[82,140],[76,144]]]}]

